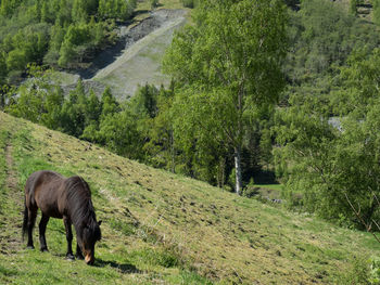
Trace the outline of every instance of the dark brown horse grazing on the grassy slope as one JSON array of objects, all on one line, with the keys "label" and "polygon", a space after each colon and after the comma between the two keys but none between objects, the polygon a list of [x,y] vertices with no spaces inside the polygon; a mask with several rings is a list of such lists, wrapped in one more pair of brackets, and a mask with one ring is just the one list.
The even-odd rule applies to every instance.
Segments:
[{"label": "dark brown horse grazing on the grassy slope", "polygon": [[[37,210],[41,209],[39,241],[41,251],[48,251],[45,232],[50,217],[63,219],[66,229],[66,258],[74,260],[72,249],[72,223],[77,236],[76,257],[93,264],[94,244],[101,238],[97,217],[91,202],[91,192],[87,182],[80,177],[64,178],[53,171],[37,171],[26,181],[23,236],[28,233],[27,248],[34,248],[33,228]],[[84,257],[85,256],[85,257]]]}]

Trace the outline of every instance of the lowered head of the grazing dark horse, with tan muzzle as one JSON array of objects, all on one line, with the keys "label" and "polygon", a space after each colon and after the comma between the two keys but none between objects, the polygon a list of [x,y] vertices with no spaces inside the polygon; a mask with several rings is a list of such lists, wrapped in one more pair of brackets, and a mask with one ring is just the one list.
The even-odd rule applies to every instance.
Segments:
[{"label": "lowered head of the grazing dark horse, with tan muzzle", "polygon": [[89,265],[92,265],[94,262],[94,245],[102,237],[100,231],[101,223],[102,221],[97,222],[94,220],[89,224],[85,224],[78,238],[78,244],[85,257],[85,261]]}]

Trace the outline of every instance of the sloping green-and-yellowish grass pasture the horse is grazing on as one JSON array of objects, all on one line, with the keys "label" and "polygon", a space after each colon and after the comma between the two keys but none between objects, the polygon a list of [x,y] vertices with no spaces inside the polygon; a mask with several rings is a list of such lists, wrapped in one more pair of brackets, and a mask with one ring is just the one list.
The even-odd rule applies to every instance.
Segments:
[{"label": "sloping green-and-yellowish grass pasture the horse is grazing on", "polygon": [[[62,220],[48,224],[50,252],[21,242],[23,184],[39,169],[89,182],[103,220],[94,267],[64,260]],[[358,260],[380,254],[369,234],[152,169],[3,113],[0,198],[0,284],[344,284],[359,278]]]}]

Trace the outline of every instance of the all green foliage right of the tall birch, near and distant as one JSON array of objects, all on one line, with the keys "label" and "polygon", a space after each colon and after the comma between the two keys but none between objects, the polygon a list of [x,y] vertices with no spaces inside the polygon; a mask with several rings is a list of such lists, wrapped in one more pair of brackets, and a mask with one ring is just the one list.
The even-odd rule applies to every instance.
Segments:
[{"label": "all green foliage right of the tall birch, near and distant", "polygon": [[[351,12],[358,3],[351,1]],[[368,224],[380,213],[377,33],[331,1],[302,1],[291,13],[290,86],[275,121],[277,173],[290,207],[344,226],[364,226],[349,200]]]}]

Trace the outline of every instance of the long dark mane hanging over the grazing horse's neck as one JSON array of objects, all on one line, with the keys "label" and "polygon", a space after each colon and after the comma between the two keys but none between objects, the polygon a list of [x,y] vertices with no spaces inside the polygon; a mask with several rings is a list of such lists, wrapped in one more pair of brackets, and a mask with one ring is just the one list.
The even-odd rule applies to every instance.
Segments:
[{"label": "long dark mane hanging over the grazing horse's neck", "polygon": [[[69,207],[69,217],[77,233],[81,233],[85,226],[89,228],[100,239],[99,226],[97,226],[97,217],[91,202],[91,191],[87,182],[78,177],[67,178],[65,181],[67,191],[67,203]],[[97,230],[98,228],[98,230]],[[81,234],[80,234],[81,235]]]}]

